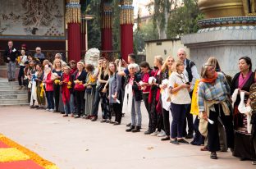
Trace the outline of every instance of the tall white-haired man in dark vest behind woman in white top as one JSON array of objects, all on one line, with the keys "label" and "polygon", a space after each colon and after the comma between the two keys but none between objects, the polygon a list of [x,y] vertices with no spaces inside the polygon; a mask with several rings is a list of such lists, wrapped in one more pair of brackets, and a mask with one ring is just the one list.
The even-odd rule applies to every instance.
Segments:
[{"label": "tall white-haired man in dark vest behind woman in white top", "polygon": [[[197,71],[197,68],[196,68],[194,62],[187,59],[184,48],[179,48],[177,55],[178,55],[179,59],[181,60],[181,62],[184,62],[185,70],[183,73],[189,79],[188,82],[190,82],[190,85],[191,85],[190,86],[190,97],[192,97],[195,80],[199,80],[200,76],[198,74],[198,71]],[[190,114],[190,108],[191,108],[191,104],[190,104],[190,107],[188,108],[188,110],[185,112],[186,118],[184,121],[184,128],[183,128],[184,129],[183,135],[185,136],[185,139],[192,139],[193,133],[194,133],[193,115]],[[188,127],[189,127],[188,133],[186,132],[186,124],[187,124],[186,121],[188,121]]]}]

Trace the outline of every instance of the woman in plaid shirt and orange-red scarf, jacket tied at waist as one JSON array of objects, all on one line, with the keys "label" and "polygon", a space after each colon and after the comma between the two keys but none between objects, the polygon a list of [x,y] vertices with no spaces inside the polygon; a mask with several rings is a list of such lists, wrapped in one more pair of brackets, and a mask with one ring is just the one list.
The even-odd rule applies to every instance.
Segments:
[{"label": "woman in plaid shirt and orange-red scarf, jacket tied at waist", "polygon": [[220,150],[217,127],[219,118],[226,129],[227,146],[230,148],[232,146],[230,87],[227,85],[224,75],[216,72],[215,67],[208,63],[202,67],[201,78],[198,87],[199,131],[208,138],[210,158],[217,159],[216,152]]}]

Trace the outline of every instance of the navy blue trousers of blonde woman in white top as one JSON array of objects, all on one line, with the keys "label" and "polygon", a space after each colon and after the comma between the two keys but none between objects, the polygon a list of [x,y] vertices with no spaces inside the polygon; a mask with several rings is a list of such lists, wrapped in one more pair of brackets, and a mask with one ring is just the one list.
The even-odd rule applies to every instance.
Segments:
[{"label": "navy blue trousers of blonde woman in white top", "polygon": [[188,104],[171,103],[171,139],[182,138],[185,120],[185,111]]}]

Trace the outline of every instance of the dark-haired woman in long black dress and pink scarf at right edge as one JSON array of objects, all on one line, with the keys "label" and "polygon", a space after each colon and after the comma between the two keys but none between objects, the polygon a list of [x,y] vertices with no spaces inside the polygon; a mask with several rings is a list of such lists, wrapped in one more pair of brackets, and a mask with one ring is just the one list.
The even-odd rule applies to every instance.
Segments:
[{"label": "dark-haired woman in long black dress and pink scarf at right edge", "polygon": [[234,129],[235,129],[235,141],[234,152],[235,157],[239,157],[240,160],[254,159],[255,153],[250,139],[250,133],[247,130],[247,116],[241,113],[238,106],[241,102],[240,92],[245,92],[244,102],[247,102],[249,97],[249,87],[254,83],[254,73],[252,70],[252,62],[249,57],[240,57],[239,59],[240,72],[235,74],[232,85],[231,94],[235,93],[235,89],[238,89],[237,98],[234,104]]}]

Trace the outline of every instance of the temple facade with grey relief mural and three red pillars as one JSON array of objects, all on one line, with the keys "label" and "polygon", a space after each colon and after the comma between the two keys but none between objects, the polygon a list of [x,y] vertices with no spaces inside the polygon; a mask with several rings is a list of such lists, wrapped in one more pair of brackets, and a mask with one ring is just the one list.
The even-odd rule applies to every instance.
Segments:
[{"label": "temple facade with grey relief mural and three red pillars", "polygon": [[[85,15],[89,0],[0,0],[0,53],[13,40],[20,49],[41,47],[44,52],[62,53],[66,60],[80,61],[88,50]],[[120,0],[121,51],[127,60],[133,53],[134,7],[132,0]],[[112,0],[101,0],[101,47],[104,57],[112,51]],[[46,54],[48,55],[48,54]]]}]

